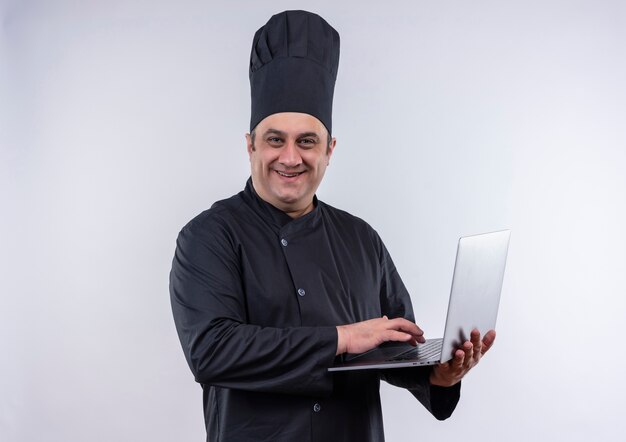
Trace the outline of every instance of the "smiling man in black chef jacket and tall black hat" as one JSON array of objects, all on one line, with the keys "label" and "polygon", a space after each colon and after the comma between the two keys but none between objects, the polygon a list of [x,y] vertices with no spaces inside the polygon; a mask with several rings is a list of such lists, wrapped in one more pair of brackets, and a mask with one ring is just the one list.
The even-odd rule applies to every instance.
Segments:
[{"label": "smiling man in black chef jacket and tall black hat", "polygon": [[315,14],[277,14],[257,31],[251,178],[178,237],[172,308],[207,440],[383,440],[380,379],[445,419],[495,338],[473,332],[434,368],[327,371],[344,353],[424,342],[377,233],[315,196],[336,145],[338,62],[339,35]]}]

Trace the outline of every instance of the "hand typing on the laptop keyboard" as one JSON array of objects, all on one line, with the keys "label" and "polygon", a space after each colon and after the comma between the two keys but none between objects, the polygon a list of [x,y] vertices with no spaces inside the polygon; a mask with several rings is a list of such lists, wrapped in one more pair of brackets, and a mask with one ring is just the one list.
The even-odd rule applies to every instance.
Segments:
[{"label": "hand typing on the laptop keyboard", "polygon": [[424,332],[404,318],[369,319],[348,325],[337,326],[337,355],[363,353],[378,347],[383,342],[399,341],[411,345],[424,343]]}]

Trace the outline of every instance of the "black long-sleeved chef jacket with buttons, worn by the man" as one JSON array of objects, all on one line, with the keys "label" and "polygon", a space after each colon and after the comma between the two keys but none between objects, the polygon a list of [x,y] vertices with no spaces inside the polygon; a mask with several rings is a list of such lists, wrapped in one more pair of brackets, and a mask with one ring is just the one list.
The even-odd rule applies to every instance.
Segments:
[{"label": "black long-sleeved chef jacket with buttons, worn by the man", "polygon": [[292,219],[248,180],[182,229],[170,293],[207,441],[382,441],[380,379],[438,419],[459,399],[459,385],[430,386],[428,367],[327,371],[337,325],[414,316],[377,233],[317,198]]}]

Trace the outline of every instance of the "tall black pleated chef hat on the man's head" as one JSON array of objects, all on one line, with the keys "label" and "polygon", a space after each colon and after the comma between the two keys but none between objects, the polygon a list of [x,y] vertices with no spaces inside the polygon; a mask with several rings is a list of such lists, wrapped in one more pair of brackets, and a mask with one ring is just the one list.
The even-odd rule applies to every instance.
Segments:
[{"label": "tall black pleated chef hat on the man's head", "polygon": [[250,54],[250,131],[278,112],[302,112],[332,129],[339,34],[306,11],[272,16],[254,34]]}]

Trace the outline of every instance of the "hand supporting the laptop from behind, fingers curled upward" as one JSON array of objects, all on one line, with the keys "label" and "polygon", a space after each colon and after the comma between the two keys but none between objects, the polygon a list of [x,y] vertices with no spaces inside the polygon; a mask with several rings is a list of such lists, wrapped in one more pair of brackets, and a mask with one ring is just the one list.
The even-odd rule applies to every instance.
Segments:
[{"label": "hand supporting the laptop from behind, fingers curled upward", "polygon": [[495,330],[489,330],[484,338],[480,339],[480,332],[472,330],[470,340],[454,352],[454,357],[448,362],[436,365],[430,374],[430,383],[441,387],[451,387],[461,381],[487,353],[496,339]]}]

